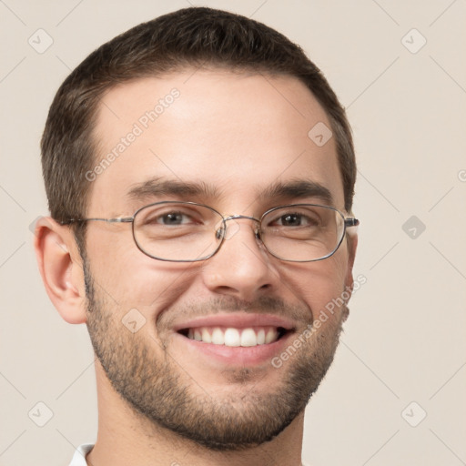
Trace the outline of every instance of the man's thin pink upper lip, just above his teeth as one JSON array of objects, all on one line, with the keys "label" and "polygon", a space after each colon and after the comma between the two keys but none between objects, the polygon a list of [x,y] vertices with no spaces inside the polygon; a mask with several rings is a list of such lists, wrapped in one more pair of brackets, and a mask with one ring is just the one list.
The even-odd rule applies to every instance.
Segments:
[{"label": "man's thin pink upper lip, just above his teeth", "polygon": [[215,314],[185,320],[174,326],[175,331],[183,329],[196,329],[199,327],[230,327],[235,329],[248,329],[251,327],[281,327],[286,330],[295,329],[296,326],[289,319],[274,314],[228,313]]}]

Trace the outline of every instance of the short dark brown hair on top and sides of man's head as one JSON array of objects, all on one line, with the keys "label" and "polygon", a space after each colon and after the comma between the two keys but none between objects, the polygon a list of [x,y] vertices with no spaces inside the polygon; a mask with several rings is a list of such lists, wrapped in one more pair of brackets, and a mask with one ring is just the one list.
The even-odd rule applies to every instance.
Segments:
[{"label": "short dark brown hair on top and sides of man's head", "polygon": [[[324,108],[335,136],[350,211],[356,179],[351,130],[326,78],[287,37],[226,11],[192,7],[137,25],[118,35],[67,76],[58,89],[42,137],[42,166],[51,216],[85,218],[96,158],[93,128],[104,93],[130,79],[160,76],[187,66],[221,66],[299,78]],[[310,128],[309,128],[310,129]]]}]

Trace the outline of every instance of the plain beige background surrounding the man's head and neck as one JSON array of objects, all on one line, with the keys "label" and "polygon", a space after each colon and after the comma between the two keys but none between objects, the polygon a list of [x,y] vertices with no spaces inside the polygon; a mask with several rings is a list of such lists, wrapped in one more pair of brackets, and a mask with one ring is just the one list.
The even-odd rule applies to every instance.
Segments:
[{"label": "plain beige background surrounding the man's head and neck", "polygon": [[[251,16],[298,42],[354,129],[355,274],[367,283],[309,404],[303,458],[466,464],[464,0],[1,0],[0,464],[64,465],[78,444],[96,440],[86,327],[60,319],[32,248],[30,225],[47,211],[38,143],[48,106],[96,46],[189,4]],[[46,45],[39,28],[54,41],[42,54],[28,44],[42,34]]]}]

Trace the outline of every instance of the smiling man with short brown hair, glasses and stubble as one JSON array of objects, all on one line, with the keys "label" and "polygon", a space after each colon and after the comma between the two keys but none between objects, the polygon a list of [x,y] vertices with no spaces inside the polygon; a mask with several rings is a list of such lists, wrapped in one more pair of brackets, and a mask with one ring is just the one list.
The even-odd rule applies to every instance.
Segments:
[{"label": "smiling man with short brown hair, glasses and stubble", "polygon": [[319,69],[248,18],[164,15],[66,78],[42,157],[39,268],[96,353],[96,444],[71,464],[301,464],[359,223]]}]

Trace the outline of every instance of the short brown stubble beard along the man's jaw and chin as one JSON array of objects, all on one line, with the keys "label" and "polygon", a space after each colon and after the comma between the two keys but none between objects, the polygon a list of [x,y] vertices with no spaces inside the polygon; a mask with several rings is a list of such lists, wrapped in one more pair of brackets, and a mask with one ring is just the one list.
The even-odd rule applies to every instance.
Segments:
[{"label": "short brown stubble beard along the man's jaw and chin", "polygon": [[[271,441],[284,431],[318,389],[338,346],[341,321],[316,334],[279,369],[282,377],[268,392],[245,385],[244,396],[218,396],[190,378],[161,343],[131,333],[112,312],[104,292],[97,292],[84,260],[87,329],[106,377],[144,423],[167,429],[211,451],[245,450]],[[115,306],[114,306],[115,308]],[[149,325],[148,323],[146,325]],[[297,338],[299,335],[297,335]],[[253,371],[230,371],[228,383],[248,382]],[[258,380],[260,381],[260,380]],[[238,391],[238,390],[235,390]],[[142,417],[142,418],[141,418]]]}]

